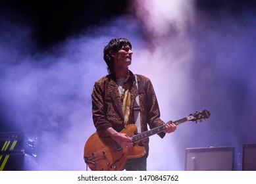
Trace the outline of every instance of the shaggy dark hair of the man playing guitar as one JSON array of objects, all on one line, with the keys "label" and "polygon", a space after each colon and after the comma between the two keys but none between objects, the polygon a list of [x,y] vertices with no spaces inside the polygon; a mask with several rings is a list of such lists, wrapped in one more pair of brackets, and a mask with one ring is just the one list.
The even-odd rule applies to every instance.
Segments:
[{"label": "shaggy dark hair of the man playing guitar", "polygon": [[109,41],[109,43],[104,47],[103,58],[107,63],[107,70],[109,74],[114,74],[114,61],[111,54],[114,55],[115,53],[117,53],[119,49],[121,49],[124,45],[129,45],[132,49],[132,44],[126,38],[111,39],[111,41]]}]

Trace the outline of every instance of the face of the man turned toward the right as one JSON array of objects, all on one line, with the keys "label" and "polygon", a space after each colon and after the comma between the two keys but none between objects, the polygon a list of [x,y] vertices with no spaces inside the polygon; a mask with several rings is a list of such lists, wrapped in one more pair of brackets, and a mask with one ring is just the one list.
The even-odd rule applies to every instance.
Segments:
[{"label": "face of the man turned toward the right", "polygon": [[114,65],[117,68],[127,68],[132,63],[132,49],[129,45],[124,45],[113,55]]}]

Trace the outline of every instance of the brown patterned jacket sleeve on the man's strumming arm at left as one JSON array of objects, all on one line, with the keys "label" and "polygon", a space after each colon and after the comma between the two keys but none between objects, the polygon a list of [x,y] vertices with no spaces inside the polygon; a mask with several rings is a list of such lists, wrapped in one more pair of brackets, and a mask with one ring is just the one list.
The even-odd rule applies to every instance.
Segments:
[{"label": "brown patterned jacket sleeve on the man's strumming arm at left", "polygon": [[97,131],[104,131],[105,129],[112,126],[111,123],[107,121],[107,110],[105,110],[104,99],[105,97],[103,84],[99,81],[96,81],[91,93],[91,101],[93,124]]}]

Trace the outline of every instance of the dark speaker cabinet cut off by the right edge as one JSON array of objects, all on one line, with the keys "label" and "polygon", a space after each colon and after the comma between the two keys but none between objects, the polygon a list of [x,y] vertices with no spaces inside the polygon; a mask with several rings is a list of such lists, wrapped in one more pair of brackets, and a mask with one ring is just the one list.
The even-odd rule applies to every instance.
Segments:
[{"label": "dark speaker cabinet cut off by the right edge", "polygon": [[256,144],[243,145],[243,171],[256,171]]}]

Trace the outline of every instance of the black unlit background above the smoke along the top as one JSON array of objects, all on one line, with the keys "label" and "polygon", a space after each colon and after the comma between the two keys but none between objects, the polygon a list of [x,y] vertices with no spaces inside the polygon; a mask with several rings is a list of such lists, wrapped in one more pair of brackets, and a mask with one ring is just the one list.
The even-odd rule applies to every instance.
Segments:
[{"label": "black unlit background above the smoke along the top", "polygon": [[[0,2],[0,9],[2,20],[31,26],[31,36],[38,46],[36,49],[45,49],[70,35],[86,32],[89,26],[105,24],[107,20],[128,12],[132,14],[132,3],[133,0],[6,0]],[[256,3],[253,0],[196,0],[195,6],[216,18],[222,11],[239,17],[248,10],[255,11]]]}]

